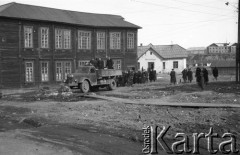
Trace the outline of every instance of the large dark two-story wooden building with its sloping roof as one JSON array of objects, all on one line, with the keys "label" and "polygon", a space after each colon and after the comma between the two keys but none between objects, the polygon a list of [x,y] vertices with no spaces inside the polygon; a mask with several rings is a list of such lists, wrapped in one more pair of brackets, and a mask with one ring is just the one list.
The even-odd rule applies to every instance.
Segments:
[{"label": "large dark two-story wooden building with its sloping roof", "polygon": [[118,15],[9,3],[0,6],[0,85],[63,81],[92,58],[137,66],[137,25]]}]

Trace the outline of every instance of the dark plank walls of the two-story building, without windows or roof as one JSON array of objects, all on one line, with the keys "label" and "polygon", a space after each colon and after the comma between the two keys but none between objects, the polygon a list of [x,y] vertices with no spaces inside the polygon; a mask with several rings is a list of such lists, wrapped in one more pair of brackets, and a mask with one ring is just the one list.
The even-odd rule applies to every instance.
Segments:
[{"label": "dark plank walls of the two-story building, without windows or roof", "polygon": [[[24,26],[33,28],[33,47],[24,47]],[[40,47],[40,28],[49,29],[49,47]],[[71,31],[71,48],[55,48],[55,29]],[[91,49],[78,49],[78,31],[91,32]],[[105,49],[97,49],[97,32],[105,32]],[[110,49],[110,33],[121,33],[121,49]],[[127,33],[134,33],[134,49],[127,49]],[[0,85],[4,87],[28,87],[42,83],[56,83],[56,62],[71,62],[71,70],[75,71],[79,60],[90,60],[101,57],[106,60],[122,60],[122,69],[137,64],[137,29],[86,27],[54,22],[8,19],[0,17]],[[34,63],[34,81],[26,82],[25,62]],[[49,81],[41,81],[41,62],[48,62]]]}]

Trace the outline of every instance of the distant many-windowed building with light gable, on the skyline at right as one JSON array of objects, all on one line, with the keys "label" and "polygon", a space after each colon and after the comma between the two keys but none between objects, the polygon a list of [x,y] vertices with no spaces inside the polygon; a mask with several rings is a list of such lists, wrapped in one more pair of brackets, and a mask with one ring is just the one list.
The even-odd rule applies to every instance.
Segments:
[{"label": "distant many-windowed building with light gable, on the skyline at right", "polygon": [[230,53],[228,43],[213,43],[207,47],[207,54],[227,54]]}]

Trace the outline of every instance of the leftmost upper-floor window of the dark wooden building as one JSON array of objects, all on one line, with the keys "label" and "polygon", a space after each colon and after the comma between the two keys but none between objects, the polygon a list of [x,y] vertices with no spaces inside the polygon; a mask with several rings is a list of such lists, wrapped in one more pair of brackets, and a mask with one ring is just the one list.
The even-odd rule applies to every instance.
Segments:
[{"label": "leftmost upper-floor window of the dark wooden building", "polygon": [[33,28],[30,26],[24,26],[24,47],[33,47]]}]

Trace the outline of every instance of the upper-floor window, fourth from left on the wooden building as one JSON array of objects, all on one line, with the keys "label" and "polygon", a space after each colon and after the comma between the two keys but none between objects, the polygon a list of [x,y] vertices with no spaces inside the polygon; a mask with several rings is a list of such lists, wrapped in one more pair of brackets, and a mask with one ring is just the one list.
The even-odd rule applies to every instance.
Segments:
[{"label": "upper-floor window, fourth from left on the wooden building", "polygon": [[78,49],[91,49],[91,32],[78,31]]}]

